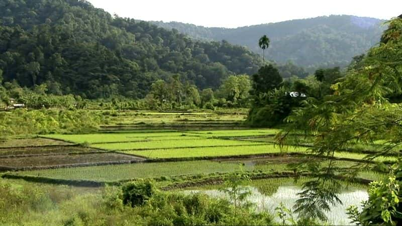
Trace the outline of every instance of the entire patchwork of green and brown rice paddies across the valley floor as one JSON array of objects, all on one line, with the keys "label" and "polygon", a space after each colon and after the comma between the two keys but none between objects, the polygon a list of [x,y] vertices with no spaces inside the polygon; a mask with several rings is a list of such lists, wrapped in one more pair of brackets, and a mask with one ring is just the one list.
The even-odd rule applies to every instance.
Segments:
[{"label": "entire patchwork of green and brown rice paddies across the valley floor", "polygon": [[[367,159],[367,154],[359,151],[380,151],[383,146],[380,141],[370,146],[353,144],[350,151],[334,153],[332,160],[315,157],[309,142],[280,147],[274,139],[280,129],[247,128],[242,123],[245,112],[241,110],[99,114],[104,117],[104,125],[97,133],[3,140],[0,175],[6,179],[84,187],[89,186],[88,181],[93,182],[91,186],[103,186],[151,178],[164,190],[219,195],[216,191],[224,186],[225,178],[244,170],[252,178],[254,202],[264,206],[270,200],[276,203],[279,199],[273,197],[278,195],[280,200],[294,202],[300,182],[306,178],[302,176],[299,183],[294,183],[295,171],[289,164],[306,157],[309,161],[320,161],[323,167],[332,161],[339,178],[345,178],[342,176],[350,167],[364,165],[356,172],[360,182],[345,192],[366,190],[369,181],[386,176],[376,165],[397,159],[396,154]],[[364,194],[358,194],[357,199],[363,200]]]}]

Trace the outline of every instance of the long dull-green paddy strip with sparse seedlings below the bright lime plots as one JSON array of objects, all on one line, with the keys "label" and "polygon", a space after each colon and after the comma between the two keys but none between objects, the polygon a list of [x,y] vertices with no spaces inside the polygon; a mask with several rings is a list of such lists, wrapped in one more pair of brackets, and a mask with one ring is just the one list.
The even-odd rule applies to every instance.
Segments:
[{"label": "long dull-green paddy strip with sparse seedlings below the bright lime plots", "polygon": [[[201,175],[211,173],[227,173],[239,170],[254,171],[254,172],[283,172],[289,171],[287,165],[289,161],[297,162],[299,159],[252,159],[252,160],[230,160],[230,161],[182,161],[182,162],[160,162],[160,163],[137,163],[124,165],[105,165],[105,166],[88,166],[76,168],[60,168],[46,170],[31,170],[19,172],[19,175],[41,176],[53,179],[67,180],[91,180],[99,182],[116,182],[122,180],[136,178],[151,178],[151,177],[174,177],[182,175]],[[329,161],[323,161],[324,166],[329,164]],[[240,165],[243,167],[240,168]],[[335,161],[337,167],[350,167],[354,163],[347,161]],[[381,174],[362,172],[363,178],[378,178]]]}]

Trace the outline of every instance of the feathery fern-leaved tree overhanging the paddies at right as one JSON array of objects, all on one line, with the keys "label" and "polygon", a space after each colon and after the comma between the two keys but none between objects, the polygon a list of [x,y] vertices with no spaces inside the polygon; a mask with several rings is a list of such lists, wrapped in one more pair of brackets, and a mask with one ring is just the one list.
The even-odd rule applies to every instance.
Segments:
[{"label": "feathery fern-leaved tree overhanging the paddies at right", "polygon": [[[390,95],[402,90],[402,19],[388,22],[382,42],[371,48],[362,60],[361,67],[350,68],[346,75],[332,85],[333,94],[322,100],[313,97],[303,102],[286,119],[288,128],[276,136],[281,145],[297,144],[313,137],[313,157],[333,157],[338,150],[350,144],[373,144],[383,140],[386,144],[365,159],[378,156],[397,155],[392,150],[402,141],[402,108],[390,103]],[[292,131],[304,131],[305,137],[288,136]],[[310,141],[311,142],[311,141]],[[367,165],[359,164],[343,173],[336,166],[323,166],[320,161],[305,161],[295,170],[308,170],[313,179],[304,183],[294,208],[301,217],[326,220],[323,210],[330,204],[341,203],[337,194],[340,190],[338,178],[352,179]]]}]

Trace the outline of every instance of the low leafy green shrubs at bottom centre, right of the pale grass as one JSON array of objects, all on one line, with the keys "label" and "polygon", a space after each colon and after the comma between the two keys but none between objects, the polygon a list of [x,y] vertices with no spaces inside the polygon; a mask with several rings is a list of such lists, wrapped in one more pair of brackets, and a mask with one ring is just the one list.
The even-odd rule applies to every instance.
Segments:
[{"label": "low leafy green shrubs at bottom centre, right of the pale grass", "polygon": [[[150,200],[148,225],[265,225],[272,224],[267,213],[244,209],[238,216],[233,206],[223,199],[211,199],[205,194],[160,194]],[[150,211],[151,210],[151,211]],[[236,219],[236,220],[234,220]]]}]

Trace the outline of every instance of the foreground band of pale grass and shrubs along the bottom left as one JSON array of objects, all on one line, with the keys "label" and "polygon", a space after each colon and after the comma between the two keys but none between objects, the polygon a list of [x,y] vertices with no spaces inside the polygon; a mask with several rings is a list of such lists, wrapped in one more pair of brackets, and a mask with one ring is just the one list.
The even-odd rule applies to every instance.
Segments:
[{"label": "foreground band of pale grass and shrubs along the bottom left", "polygon": [[[124,187],[88,194],[87,188],[11,183],[0,180],[0,223],[4,225],[270,225],[266,212],[243,209],[205,194],[155,192],[146,204],[123,205]],[[141,185],[143,184],[143,185]],[[146,184],[146,183],[145,183]],[[137,188],[146,187],[137,182]],[[146,189],[145,189],[146,190]],[[139,190],[142,194],[143,190]],[[236,218],[236,221],[233,219]]]}]

